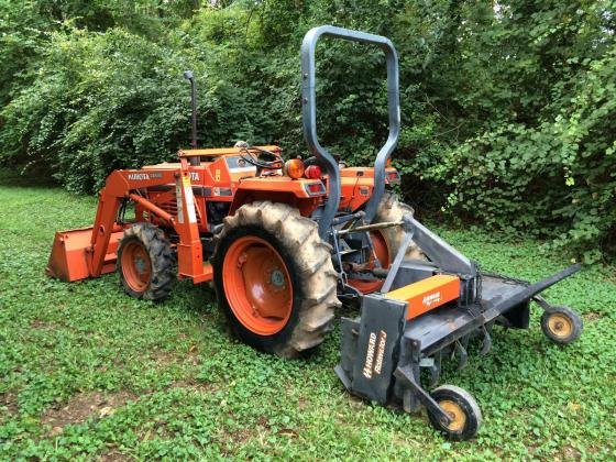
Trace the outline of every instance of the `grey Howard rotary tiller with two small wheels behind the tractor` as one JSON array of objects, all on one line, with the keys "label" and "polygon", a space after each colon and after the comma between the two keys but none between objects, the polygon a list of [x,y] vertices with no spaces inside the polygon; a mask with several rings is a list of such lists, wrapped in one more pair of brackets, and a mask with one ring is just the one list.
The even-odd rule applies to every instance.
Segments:
[{"label": "grey Howard rotary tiller with two small wheels behind the tractor", "polygon": [[541,328],[548,338],[561,344],[574,341],[582,331],[581,318],[569,308],[549,305],[539,293],[576,273],[580,265],[529,284],[477,271],[413,217],[406,217],[403,226],[407,239],[413,237],[429,261],[404,261],[406,248],[400,248],[383,293],[362,298],[359,318],[342,318],[336,373],[350,393],[407,413],[424,406],[437,430],[466,440],[481,426],[476,402],[457,386],[428,393],[421,371],[427,371],[432,387],[440,377],[441,359],[453,355],[460,367],[466,364],[470,339],[480,338],[481,353],[488,352],[494,323],[528,328],[531,299],[544,310]]}]

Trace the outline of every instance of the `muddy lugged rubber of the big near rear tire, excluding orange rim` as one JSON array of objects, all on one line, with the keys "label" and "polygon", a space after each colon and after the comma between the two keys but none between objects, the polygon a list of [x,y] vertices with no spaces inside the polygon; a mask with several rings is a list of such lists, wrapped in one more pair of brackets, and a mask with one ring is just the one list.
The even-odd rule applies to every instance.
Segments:
[{"label": "muddy lugged rubber of the big near rear tire, excluding orange rim", "polygon": [[[235,318],[224,293],[226,253],[235,240],[245,235],[267,241],[284,260],[292,279],[290,317],[285,327],[272,336],[246,329]],[[319,238],[317,223],[301,217],[297,209],[270,201],[240,207],[224,219],[212,265],[219,306],[244,343],[278,356],[295,358],[321,344],[332,329],[334,309],[341,304],[337,297],[338,274],[331,263],[331,246]]]}]

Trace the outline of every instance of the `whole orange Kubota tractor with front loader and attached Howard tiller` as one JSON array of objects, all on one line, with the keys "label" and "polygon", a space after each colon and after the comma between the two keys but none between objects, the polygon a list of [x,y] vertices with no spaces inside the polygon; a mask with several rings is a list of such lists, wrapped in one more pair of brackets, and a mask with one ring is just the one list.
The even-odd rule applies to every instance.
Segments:
[{"label": "whole orange Kubota tractor with front loader and attached Howard tiller", "polygon": [[[389,134],[372,167],[340,164],[317,138],[315,50],[322,35],[373,44],[387,63]],[[302,123],[310,156],[284,160],[278,146],[237,143],[193,148],[179,162],[112,172],[92,228],[57,232],[47,273],[72,282],[118,271],[132,297],[162,300],[174,279],[213,279],[218,302],[244,342],[296,356],[323,341],[342,301],[361,316],[341,321],[336,373],[349,392],[407,411],[421,405],[452,439],[471,438],[481,411],[465,391],[440,386],[441,358],[465,364],[495,323],[527,328],[530,300],[544,310],[543,332],[569,343],[582,330],[569,308],[539,293],[575,273],[569,267],[529,284],[479,270],[385,191],[399,125],[397,54],[389,40],[333,26],[310,30],[301,46]],[[127,211],[134,209],[134,218]]]}]

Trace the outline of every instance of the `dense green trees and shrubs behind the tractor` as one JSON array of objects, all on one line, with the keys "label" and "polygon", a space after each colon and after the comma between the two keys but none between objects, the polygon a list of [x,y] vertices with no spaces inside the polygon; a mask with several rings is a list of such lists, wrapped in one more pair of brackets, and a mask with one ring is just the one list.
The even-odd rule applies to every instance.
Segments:
[{"label": "dense green trees and shrubs behind the tractor", "polygon": [[[94,191],[170,160],[198,78],[202,145],[305,151],[299,44],[314,25],[384,34],[400,55],[395,163],[419,212],[616,246],[616,2],[0,0],[0,162]],[[384,139],[383,57],[323,41],[319,132],[352,163]],[[554,239],[556,238],[556,239]]]}]

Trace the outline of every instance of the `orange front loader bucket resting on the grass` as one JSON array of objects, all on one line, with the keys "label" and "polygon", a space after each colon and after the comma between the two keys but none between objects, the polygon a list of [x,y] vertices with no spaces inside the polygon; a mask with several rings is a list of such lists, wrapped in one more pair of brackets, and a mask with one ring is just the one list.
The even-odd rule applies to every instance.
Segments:
[{"label": "orange front loader bucket resting on the grass", "polygon": [[[116,270],[116,251],[122,232],[111,234],[101,273]],[[45,272],[64,282],[74,282],[92,276],[91,272],[91,238],[92,228],[58,231]]]}]

